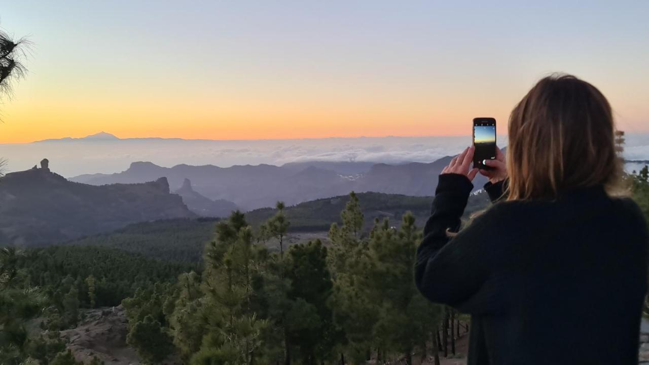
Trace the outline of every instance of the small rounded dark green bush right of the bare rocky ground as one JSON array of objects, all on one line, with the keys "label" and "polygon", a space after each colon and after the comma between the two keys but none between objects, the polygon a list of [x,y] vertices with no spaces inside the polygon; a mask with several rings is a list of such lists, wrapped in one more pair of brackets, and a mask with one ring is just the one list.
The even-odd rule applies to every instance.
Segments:
[{"label": "small rounded dark green bush right of the bare rocky ground", "polygon": [[146,364],[158,364],[173,351],[171,338],[151,315],[132,326],[127,344],[138,351],[140,359]]}]

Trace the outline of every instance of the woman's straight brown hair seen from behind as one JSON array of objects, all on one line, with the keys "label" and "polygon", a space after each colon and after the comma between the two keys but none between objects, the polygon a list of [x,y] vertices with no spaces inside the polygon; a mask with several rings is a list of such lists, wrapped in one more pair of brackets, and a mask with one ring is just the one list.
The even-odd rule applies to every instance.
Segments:
[{"label": "woman's straight brown hair seen from behind", "polygon": [[509,117],[507,200],[554,199],[561,191],[621,176],[611,106],[572,75],[541,79]]}]

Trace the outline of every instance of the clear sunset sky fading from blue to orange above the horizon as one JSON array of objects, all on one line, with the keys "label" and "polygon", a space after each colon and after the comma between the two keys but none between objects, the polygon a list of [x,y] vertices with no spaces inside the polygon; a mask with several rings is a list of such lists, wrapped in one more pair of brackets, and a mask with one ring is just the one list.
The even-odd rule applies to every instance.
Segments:
[{"label": "clear sunset sky fading from blue to orange above the horizon", "polygon": [[539,78],[649,132],[649,1],[2,1],[29,36],[0,143],[498,134]]}]

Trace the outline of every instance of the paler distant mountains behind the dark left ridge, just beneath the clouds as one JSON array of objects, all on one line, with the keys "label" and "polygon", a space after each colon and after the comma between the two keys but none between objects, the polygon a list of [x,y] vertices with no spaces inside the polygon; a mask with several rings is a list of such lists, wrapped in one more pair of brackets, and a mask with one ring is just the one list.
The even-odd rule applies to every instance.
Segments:
[{"label": "paler distant mountains behind the dark left ridge, just beneath the clouds", "polygon": [[[378,192],[430,196],[434,194],[437,176],[450,157],[432,163],[366,162],[331,163],[312,161],[282,166],[244,165],[176,165],[160,167],[151,162],[134,162],[129,169],[116,174],[80,175],[71,180],[92,185],[140,183],[166,177],[171,187],[191,180],[193,191],[210,200],[228,200],[244,211],[275,206],[281,200],[288,205],[356,192]],[[486,182],[476,177],[476,189]]]}]

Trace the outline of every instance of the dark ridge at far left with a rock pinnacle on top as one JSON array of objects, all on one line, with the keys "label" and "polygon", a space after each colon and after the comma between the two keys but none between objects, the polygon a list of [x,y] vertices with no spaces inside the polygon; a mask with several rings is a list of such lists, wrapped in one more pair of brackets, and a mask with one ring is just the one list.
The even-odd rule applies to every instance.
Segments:
[{"label": "dark ridge at far left with a rock pinnacle on top", "polygon": [[0,244],[37,246],[113,231],[127,224],[191,218],[165,178],[93,186],[69,182],[41,168],[0,178]]}]

